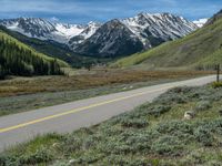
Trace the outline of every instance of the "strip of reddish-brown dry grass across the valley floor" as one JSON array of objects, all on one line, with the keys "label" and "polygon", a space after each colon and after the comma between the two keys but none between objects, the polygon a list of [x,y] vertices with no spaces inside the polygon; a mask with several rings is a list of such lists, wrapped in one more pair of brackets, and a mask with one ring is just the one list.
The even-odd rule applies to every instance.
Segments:
[{"label": "strip of reddish-brown dry grass across the valley floor", "polygon": [[103,85],[127,84],[162,79],[186,79],[211,74],[203,71],[139,71],[92,70],[78,71],[72,76],[13,77],[0,82],[0,96],[84,90]]}]

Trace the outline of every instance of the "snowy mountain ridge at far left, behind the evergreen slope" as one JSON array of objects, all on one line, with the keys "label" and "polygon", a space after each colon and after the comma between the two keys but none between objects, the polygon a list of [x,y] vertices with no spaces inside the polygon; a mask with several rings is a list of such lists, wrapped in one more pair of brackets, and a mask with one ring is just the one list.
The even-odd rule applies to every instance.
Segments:
[{"label": "snowy mountain ridge at far left, behind the evergreen slope", "polygon": [[29,38],[52,40],[59,43],[68,43],[72,37],[79,35],[88,28],[80,24],[52,23],[40,18],[0,20],[0,24]]}]

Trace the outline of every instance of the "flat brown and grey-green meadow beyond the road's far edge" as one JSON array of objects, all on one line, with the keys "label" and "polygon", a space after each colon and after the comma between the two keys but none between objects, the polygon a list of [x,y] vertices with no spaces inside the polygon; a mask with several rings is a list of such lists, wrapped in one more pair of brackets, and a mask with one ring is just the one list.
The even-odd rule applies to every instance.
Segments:
[{"label": "flat brown and grey-green meadow beyond the road's far edge", "polygon": [[12,77],[0,81],[0,116],[211,74],[95,69],[72,72],[71,76]]}]

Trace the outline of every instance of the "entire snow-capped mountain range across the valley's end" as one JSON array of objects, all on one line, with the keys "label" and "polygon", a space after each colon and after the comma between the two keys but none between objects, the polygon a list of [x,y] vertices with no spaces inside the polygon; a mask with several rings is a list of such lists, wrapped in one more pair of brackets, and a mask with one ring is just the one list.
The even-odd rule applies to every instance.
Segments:
[{"label": "entire snow-capped mountain range across the valley's end", "polygon": [[193,22],[170,13],[140,13],[103,24],[52,23],[39,18],[0,20],[0,24],[30,38],[67,44],[75,53],[99,56],[132,54],[198,29]]}]

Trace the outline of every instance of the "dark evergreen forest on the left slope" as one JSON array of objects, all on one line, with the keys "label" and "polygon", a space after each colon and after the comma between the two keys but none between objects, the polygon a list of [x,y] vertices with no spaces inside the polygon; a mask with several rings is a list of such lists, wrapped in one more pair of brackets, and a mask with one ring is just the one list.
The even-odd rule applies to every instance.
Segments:
[{"label": "dark evergreen forest on the left slope", "polygon": [[46,60],[16,41],[0,35],[0,79],[7,75],[58,75],[63,74],[57,60]]}]

